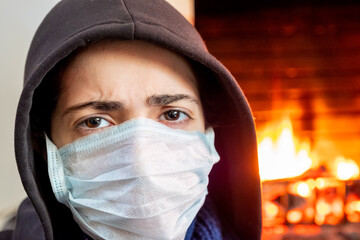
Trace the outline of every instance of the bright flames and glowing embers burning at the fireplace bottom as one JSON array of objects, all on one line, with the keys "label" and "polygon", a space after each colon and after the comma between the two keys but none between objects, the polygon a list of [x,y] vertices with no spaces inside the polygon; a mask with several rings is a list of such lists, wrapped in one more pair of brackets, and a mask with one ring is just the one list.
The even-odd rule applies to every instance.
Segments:
[{"label": "bright flames and glowing embers burning at the fireplace bottom", "polygon": [[320,165],[309,142],[294,136],[290,120],[269,126],[258,144],[264,231],[360,223],[357,163],[339,156]]}]

